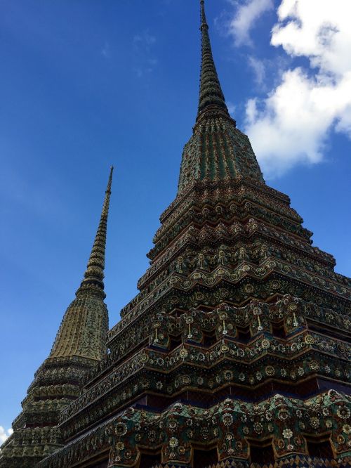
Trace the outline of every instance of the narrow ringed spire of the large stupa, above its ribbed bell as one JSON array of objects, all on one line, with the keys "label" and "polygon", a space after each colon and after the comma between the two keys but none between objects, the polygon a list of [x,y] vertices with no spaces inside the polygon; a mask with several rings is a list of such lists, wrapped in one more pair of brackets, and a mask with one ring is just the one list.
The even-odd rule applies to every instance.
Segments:
[{"label": "narrow ringed spire of the large stupa, above its ribbed bell", "polygon": [[208,34],[208,24],[204,0],[200,1],[201,8],[201,79],[199,93],[199,108],[197,120],[206,111],[222,110],[229,117],[225,97],[218,79],[216,65],[213,60],[211,41]]}]

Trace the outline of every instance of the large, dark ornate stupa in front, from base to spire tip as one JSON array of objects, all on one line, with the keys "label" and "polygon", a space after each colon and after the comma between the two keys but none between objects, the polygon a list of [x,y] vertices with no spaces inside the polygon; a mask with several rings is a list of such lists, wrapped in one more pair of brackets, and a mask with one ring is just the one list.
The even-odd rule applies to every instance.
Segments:
[{"label": "large, dark ornate stupa in front, from base to spire tip", "polygon": [[350,467],[351,280],[265,184],[200,5],[199,108],[176,200],[41,468]]}]

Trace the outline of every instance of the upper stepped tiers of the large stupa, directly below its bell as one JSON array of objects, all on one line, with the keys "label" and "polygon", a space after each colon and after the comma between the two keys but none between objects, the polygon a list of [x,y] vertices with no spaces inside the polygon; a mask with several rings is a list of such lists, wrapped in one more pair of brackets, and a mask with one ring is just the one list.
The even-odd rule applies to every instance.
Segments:
[{"label": "upper stepped tiers of the large stupa, directly below its bell", "polygon": [[[272,198],[275,205],[265,201]],[[312,247],[310,231],[301,230],[289,199],[267,186],[196,183],[161,219],[166,230],[162,226],[155,236],[158,253],[138,282],[140,293],[107,334],[113,351],[121,352],[125,340],[128,348],[138,346],[135,334],[141,337],[157,313],[211,310],[220,301],[243,306],[254,298],[274,301],[291,294],[351,315],[351,280],[333,271],[331,255]],[[170,230],[175,234],[168,235]],[[301,237],[296,231],[308,234]]]}]

